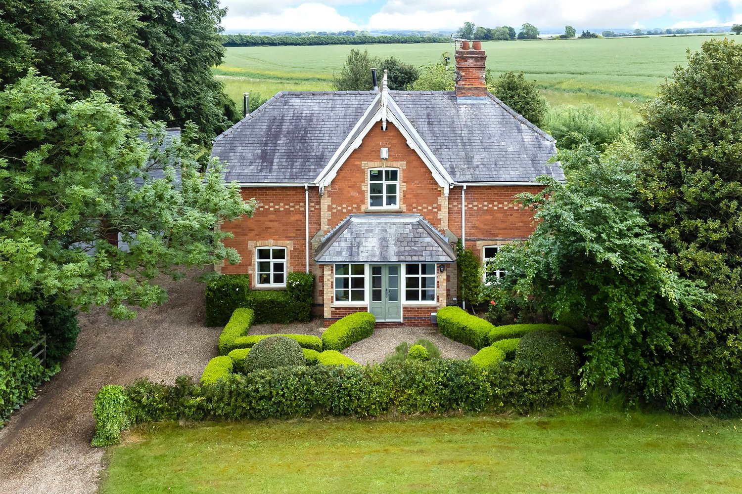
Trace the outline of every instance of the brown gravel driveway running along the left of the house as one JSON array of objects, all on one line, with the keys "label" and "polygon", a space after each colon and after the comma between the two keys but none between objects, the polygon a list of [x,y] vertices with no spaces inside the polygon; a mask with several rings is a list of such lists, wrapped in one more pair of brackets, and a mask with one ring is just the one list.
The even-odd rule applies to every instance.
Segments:
[{"label": "brown gravel driveway running along the left of the house", "polygon": [[142,376],[200,376],[217,354],[221,328],[203,326],[196,274],[163,281],[168,302],[131,321],[115,321],[101,308],[80,316],[82,332],[62,371],[0,430],[0,493],[95,493],[104,453],[90,446],[98,390]]}]

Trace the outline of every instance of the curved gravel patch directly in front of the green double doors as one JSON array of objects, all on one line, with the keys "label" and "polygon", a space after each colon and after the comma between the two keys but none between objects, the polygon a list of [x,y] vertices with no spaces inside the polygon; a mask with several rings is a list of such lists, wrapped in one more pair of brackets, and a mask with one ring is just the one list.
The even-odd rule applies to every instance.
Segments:
[{"label": "curved gravel patch directly in front of the green double doors", "polygon": [[377,327],[370,337],[350,345],[343,354],[358,364],[381,362],[402,341],[413,344],[419,338],[433,341],[444,358],[466,360],[476,353],[472,347],[450,340],[432,327]]}]

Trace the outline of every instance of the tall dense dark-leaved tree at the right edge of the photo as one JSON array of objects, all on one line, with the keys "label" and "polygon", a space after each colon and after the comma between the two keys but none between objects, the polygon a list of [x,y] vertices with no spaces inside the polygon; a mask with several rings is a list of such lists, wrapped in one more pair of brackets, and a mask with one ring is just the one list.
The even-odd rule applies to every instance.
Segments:
[{"label": "tall dense dark-leaved tree at the right edge of the photo", "polygon": [[686,315],[696,400],[742,413],[742,45],[705,41],[643,113],[643,211],[672,267],[716,296]]}]

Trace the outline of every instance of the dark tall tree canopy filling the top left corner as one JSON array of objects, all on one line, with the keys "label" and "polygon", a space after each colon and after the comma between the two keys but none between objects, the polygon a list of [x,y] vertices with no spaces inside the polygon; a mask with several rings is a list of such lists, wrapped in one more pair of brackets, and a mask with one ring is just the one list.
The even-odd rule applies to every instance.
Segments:
[{"label": "dark tall tree canopy filling the top left corner", "polygon": [[211,74],[224,48],[216,0],[8,0],[0,16],[0,88],[34,68],[73,97],[103,91],[131,118],[211,138],[237,117]]}]

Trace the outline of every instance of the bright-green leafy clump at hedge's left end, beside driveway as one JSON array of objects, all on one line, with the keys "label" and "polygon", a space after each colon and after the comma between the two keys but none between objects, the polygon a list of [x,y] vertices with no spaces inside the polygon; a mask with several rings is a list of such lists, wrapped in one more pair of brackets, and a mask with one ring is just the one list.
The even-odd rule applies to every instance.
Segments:
[{"label": "bright-green leafy clump at hedge's left end, beside driveway", "polygon": [[95,418],[95,435],[93,446],[108,446],[116,444],[121,437],[121,431],[132,425],[129,421],[131,401],[122,386],[109,384],[98,392],[93,402],[93,418]]}]

